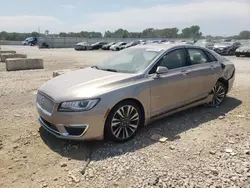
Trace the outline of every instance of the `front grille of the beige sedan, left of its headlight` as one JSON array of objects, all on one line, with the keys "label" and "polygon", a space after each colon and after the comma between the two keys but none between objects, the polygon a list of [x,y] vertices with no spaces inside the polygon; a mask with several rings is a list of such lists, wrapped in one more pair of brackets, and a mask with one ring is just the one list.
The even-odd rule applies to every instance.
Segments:
[{"label": "front grille of the beige sedan, left of its headlight", "polygon": [[49,115],[52,113],[54,109],[54,102],[49,97],[41,93],[38,93],[36,102],[39,105],[39,107],[45,112],[47,112]]}]

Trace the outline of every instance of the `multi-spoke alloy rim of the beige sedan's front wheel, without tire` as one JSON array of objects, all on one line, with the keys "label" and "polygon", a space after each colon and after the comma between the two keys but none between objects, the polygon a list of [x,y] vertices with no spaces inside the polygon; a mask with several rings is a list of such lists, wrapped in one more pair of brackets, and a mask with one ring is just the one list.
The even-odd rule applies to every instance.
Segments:
[{"label": "multi-spoke alloy rim of the beige sedan's front wheel, without tire", "polygon": [[139,112],[131,105],[120,107],[111,120],[112,134],[118,140],[127,140],[136,132],[140,122]]}]

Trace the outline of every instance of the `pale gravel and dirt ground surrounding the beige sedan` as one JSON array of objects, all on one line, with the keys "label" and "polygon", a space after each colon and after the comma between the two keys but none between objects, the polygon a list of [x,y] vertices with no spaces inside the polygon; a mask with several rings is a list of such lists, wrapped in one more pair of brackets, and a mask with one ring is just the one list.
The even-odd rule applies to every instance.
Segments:
[{"label": "pale gravel and dirt ground surrounding the beige sedan", "polygon": [[114,52],[2,49],[42,57],[45,69],[5,72],[0,64],[0,187],[250,187],[249,58],[229,57],[236,80],[220,108],[175,114],[115,144],[57,139],[40,128],[35,108],[36,91],[53,70],[91,65]]}]

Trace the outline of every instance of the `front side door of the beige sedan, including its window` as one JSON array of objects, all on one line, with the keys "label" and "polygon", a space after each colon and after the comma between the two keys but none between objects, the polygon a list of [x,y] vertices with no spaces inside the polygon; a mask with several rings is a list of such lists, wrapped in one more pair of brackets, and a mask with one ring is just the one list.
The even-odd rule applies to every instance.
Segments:
[{"label": "front side door of the beige sedan, including its window", "polygon": [[[156,76],[156,68],[165,66],[168,72]],[[179,107],[190,98],[188,66],[184,49],[176,49],[162,57],[149,72],[151,77],[151,116]]]}]

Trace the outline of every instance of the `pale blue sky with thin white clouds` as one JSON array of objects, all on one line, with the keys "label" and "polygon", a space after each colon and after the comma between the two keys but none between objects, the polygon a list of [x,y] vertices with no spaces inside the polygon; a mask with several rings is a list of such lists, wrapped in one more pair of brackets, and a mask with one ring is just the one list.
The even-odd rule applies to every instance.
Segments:
[{"label": "pale blue sky with thin white clouds", "polygon": [[199,25],[205,35],[250,30],[250,0],[0,0],[0,31],[44,33],[180,30]]}]

